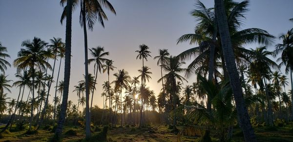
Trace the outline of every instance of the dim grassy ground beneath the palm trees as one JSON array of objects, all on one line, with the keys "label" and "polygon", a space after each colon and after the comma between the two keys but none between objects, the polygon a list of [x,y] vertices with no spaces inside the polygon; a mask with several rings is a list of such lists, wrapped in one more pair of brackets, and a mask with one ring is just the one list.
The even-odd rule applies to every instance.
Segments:
[{"label": "dim grassy ground beneath the palm trees", "polygon": [[[177,127],[179,130],[183,126]],[[74,133],[68,131],[74,130]],[[102,133],[92,132],[92,137]],[[48,129],[40,129],[37,134],[25,134],[23,131],[7,131],[0,138],[0,142],[46,142],[54,135]],[[283,127],[257,127],[254,132],[259,142],[293,142],[293,124],[288,124]],[[84,128],[77,126],[65,126],[63,130],[63,142],[85,142]],[[164,125],[152,125],[149,127],[138,128],[134,127],[117,127],[109,129],[107,132],[108,142],[177,142],[177,134],[172,132]],[[92,141],[97,141],[93,138]],[[197,142],[199,137],[182,136],[182,142]],[[217,142],[216,139],[212,139]],[[235,128],[233,132],[232,142],[244,142],[243,134],[239,128]],[[94,141],[93,141],[94,142]]]}]

